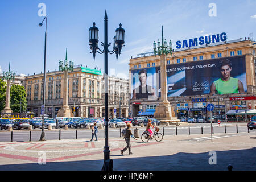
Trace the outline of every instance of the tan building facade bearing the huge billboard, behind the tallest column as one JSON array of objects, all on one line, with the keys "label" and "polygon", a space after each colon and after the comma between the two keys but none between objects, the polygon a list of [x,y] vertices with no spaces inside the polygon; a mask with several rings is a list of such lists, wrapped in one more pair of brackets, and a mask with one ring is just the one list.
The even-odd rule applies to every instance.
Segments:
[{"label": "tan building facade bearing the huge billboard, behind the tallest column", "polygon": [[[176,49],[172,56],[169,54],[166,58],[168,101],[174,107],[176,116],[209,118],[210,112],[206,107],[210,103],[215,106],[213,115],[220,119],[225,119],[229,110],[256,109],[255,51],[254,41],[238,39]],[[214,81],[220,78],[218,64],[224,59],[231,60],[231,76],[242,82],[245,92],[241,92],[241,86],[236,93],[222,92],[221,86],[217,90],[216,84],[220,82]],[[130,59],[129,67],[130,109],[133,117],[154,114],[160,101],[160,57],[153,52],[142,53]],[[147,72],[148,88],[154,88],[157,99],[143,98],[134,93],[136,88],[141,89],[139,74],[143,69]],[[211,93],[213,82],[216,90]],[[148,93],[147,90],[144,94]]]}]

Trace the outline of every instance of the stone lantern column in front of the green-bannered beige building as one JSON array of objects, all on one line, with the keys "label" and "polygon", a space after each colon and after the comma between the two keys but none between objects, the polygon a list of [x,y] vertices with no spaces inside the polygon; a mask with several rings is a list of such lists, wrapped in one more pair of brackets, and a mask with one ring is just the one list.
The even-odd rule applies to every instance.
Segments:
[{"label": "stone lantern column in front of the green-bannered beige building", "polygon": [[74,63],[69,61],[68,67],[68,50],[66,49],[66,59],[63,61],[59,61],[59,69],[64,71],[64,84],[63,84],[63,106],[59,109],[57,117],[73,117],[72,109],[69,108],[68,105],[68,71],[73,71]]}]

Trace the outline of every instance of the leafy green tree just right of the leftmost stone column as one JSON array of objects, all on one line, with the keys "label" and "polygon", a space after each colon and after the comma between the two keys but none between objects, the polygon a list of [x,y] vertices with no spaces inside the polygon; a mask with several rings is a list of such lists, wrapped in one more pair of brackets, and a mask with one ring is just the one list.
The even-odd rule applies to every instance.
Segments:
[{"label": "leafy green tree just right of the leftmost stone column", "polygon": [[[21,105],[20,105],[21,103]],[[10,107],[14,113],[24,112],[27,110],[27,100],[26,100],[26,90],[24,86],[13,85],[11,86],[11,98],[10,98]]]}]

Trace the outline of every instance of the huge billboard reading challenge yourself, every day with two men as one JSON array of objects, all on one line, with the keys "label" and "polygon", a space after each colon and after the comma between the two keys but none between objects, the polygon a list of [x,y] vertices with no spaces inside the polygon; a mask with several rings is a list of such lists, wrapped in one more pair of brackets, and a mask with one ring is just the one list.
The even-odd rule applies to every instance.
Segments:
[{"label": "huge billboard reading challenge yourself, every day with two men", "polygon": [[[247,92],[245,56],[170,64],[166,67],[167,96]],[[160,67],[131,70],[131,99],[161,96]]]}]

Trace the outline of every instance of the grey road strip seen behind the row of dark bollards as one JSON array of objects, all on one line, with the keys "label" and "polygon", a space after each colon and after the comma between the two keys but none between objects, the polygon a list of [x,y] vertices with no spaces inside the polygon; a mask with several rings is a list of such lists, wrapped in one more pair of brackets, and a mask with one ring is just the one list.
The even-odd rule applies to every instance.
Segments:
[{"label": "grey road strip seen behind the row of dark bollards", "polygon": [[[217,123],[213,123],[213,133],[225,134],[225,125],[226,125],[226,134],[237,133],[236,123],[222,123],[218,126]],[[139,129],[139,134],[141,135],[146,127],[134,126],[132,130]],[[201,134],[203,128],[203,134],[210,134],[210,123],[193,123],[191,126],[177,126],[177,135],[188,135],[189,129],[190,134]],[[122,128],[109,128],[109,137],[120,137],[120,129]],[[76,130],[77,138],[84,138],[86,140],[90,139],[92,136],[92,131],[90,129],[61,129],[61,139],[76,139]],[[59,129],[55,130],[45,130],[47,140],[56,140],[59,139]],[[160,133],[164,135],[176,135],[176,126],[160,126]],[[246,123],[238,123],[238,133],[247,133]],[[251,133],[255,133],[256,130],[250,130]],[[38,141],[40,139],[41,130],[36,129],[31,131],[31,141]],[[99,129],[98,138],[104,138],[104,129]],[[202,135],[203,137],[203,135]],[[13,142],[28,142],[30,140],[30,131],[28,130],[13,130]],[[11,141],[11,132],[10,131],[0,131],[0,142],[10,142]]]}]

